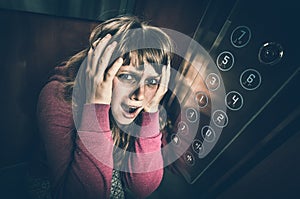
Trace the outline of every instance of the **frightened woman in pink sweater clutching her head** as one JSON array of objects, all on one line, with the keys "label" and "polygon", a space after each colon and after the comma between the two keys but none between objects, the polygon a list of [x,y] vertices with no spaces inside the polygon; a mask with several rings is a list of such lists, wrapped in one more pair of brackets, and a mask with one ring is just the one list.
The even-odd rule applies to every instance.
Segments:
[{"label": "frightened woman in pink sweater clutching her head", "polygon": [[55,69],[38,103],[54,198],[144,198],[159,186],[161,154],[144,154],[162,145],[159,103],[170,52],[163,31],[118,17],[98,25],[90,47]]}]

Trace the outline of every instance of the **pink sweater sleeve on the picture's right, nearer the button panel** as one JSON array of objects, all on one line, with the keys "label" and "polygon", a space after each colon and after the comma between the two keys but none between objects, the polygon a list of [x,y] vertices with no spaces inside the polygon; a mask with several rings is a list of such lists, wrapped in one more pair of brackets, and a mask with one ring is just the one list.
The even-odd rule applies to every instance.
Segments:
[{"label": "pink sweater sleeve on the picture's right, nearer the button panel", "polygon": [[124,173],[126,187],[137,198],[145,198],[157,187],[163,177],[163,159],[159,130],[159,113],[142,113],[140,134],[135,142],[135,153],[128,160]]}]

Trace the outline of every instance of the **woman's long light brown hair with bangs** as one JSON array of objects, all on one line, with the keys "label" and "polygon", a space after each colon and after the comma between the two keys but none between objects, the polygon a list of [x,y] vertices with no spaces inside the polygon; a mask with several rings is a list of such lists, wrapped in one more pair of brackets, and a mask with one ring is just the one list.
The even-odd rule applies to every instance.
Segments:
[{"label": "woman's long light brown hair with bangs", "polygon": [[[93,43],[103,38],[107,34],[111,34],[112,40],[117,41],[117,47],[112,56],[111,63],[114,59],[122,57],[124,65],[128,65],[130,60],[137,56],[138,65],[142,66],[146,60],[149,63],[154,63],[154,69],[158,74],[161,74],[162,65],[167,65],[171,59],[173,42],[170,37],[160,28],[150,26],[145,21],[141,21],[134,16],[121,16],[107,20],[94,28],[89,38],[89,47],[72,56],[65,63],[67,81],[64,89],[64,99],[72,101],[72,92],[75,84],[75,79],[79,71],[80,65],[87,56],[89,48],[93,47]],[[135,56],[136,59],[136,56]],[[111,64],[108,66],[108,68]],[[80,83],[80,82],[79,82]],[[83,82],[81,84],[84,84]],[[72,102],[80,109],[83,106],[82,102]],[[110,118],[112,137],[114,145],[123,149],[123,151],[134,151],[133,143],[135,138],[130,134],[122,131],[113,118]],[[115,161],[120,163],[122,155],[117,155],[119,159]]]}]

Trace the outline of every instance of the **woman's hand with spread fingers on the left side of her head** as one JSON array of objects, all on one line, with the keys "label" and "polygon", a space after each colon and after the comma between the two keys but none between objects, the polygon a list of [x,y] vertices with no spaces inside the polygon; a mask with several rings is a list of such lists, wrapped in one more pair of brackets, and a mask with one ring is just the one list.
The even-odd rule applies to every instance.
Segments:
[{"label": "woman's hand with spread fingers on the left side of her head", "polygon": [[118,58],[111,68],[105,73],[109,60],[117,45],[112,42],[107,45],[111,35],[94,42],[95,49],[90,48],[87,58],[82,64],[86,65],[86,103],[110,104],[112,96],[112,81],[122,66],[123,59]]}]

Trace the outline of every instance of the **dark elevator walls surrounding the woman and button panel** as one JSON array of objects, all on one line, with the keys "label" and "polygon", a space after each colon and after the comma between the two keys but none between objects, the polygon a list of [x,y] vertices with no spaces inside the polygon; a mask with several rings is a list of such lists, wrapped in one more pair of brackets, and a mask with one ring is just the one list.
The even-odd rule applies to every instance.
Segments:
[{"label": "dark elevator walls surrounding the woman and button panel", "polygon": [[[196,30],[199,31],[197,27],[209,5],[214,4],[216,10],[222,11],[224,4],[232,7],[234,1],[56,1],[51,5],[37,2],[35,6],[31,1],[0,3],[0,198],[5,199],[31,198],[27,174],[38,153],[35,106],[39,91],[54,66],[86,47],[89,33],[97,21],[131,13],[150,20],[152,25],[193,37]],[[254,13],[255,7],[260,6],[255,2],[258,1],[249,8]],[[297,10],[297,6],[289,1],[282,4],[293,8],[291,12]],[[272,4],[269,8],[272,10]],[[222,13],[216,13],[222,16]],[[289,27],[297,27],[294,18],[288,20]],[[213,24],[213,21],[209,23]],[[282,33],[286,31],[282,29]],[[291,35],[289,41],[298,46],[299,36]],[[209,39],[208,36],[206,41]],[[205,41],[203,45],[209,46]],[[297,51],[296,48],[290,50]],[[296,57],[289,63],[299,67]],[[226,159],[224,155],[203,179],[193,185],[166,170],[161,186],[149,198],[298,198],[299,83],[298,73],[260,117],[245,129],[245,135],[250,138],[259,131],[265,132],[250,148],[246,150],[247,144],[237,140],[227,151],[230,157],[236,158]],[[242,158],[235,156],[239,150],[245,151]],[[222,167],[225,162],[229,165],[226,169]]]}]

